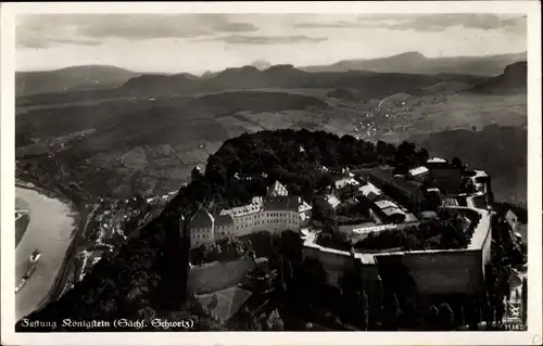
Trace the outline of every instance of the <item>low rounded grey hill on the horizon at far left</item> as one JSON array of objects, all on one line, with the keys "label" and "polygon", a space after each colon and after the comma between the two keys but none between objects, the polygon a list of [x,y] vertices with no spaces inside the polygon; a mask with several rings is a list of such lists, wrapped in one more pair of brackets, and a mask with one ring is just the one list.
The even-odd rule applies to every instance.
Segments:
[{"label": "low rounded grey hill on the horizon at far left", "polygon": [[15,73],[15,95],[24,97],[46,92],[115,88],[137,75],[137,73],[128,69],[106,65],[17,72]]}]

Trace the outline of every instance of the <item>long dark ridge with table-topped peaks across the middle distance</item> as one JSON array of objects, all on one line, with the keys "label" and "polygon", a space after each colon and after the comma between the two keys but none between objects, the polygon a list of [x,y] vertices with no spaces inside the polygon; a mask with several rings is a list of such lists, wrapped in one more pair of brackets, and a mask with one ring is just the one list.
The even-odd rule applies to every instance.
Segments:
[{"label": "long dark ridge with table-topped peaks across the middle distance", "polygon": [[[419,54],[404,54],[403,57],[397,57],[397,60],[402,60],[405,56],[415,61],[419,57]],[[247,65],[242,67],[226,68],[218,73],[205,73],[201,77],[190,74],[139,74],[128,79],[124,85],[115,88],[72,90],[66,92],[27,95],[17,98],[16,105],[63,104],[116,98],[150,99],[268,88],[342,89],[343,91],[350,90],[349,93],[352,93],[356,100],[380,100],[399,92],[407,92],[416,95],[431,94],[431,90],[425,90],[424,88],[435,85],[439,86],[440,82],[449,82],[449,85],[454,88],[447,86],[444,89],[452,88],[453,91],[457,91],[458,85],[456,82],[467,84],[466,87],[470,87],[485,81],[487,78],[488,77],[454,73],[430,75],[377,73],[355,69],[346,72],[308,73],[295,68],[290,64],[274,65],[264,71],[260,71],[255,66]],[[343,93],[343,95],[346,94]]]}]

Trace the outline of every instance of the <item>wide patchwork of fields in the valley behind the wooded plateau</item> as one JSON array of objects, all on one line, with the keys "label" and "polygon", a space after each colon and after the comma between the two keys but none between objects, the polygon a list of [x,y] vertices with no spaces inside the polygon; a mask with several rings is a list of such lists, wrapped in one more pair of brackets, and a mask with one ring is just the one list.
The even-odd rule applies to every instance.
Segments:
[{"label": "wide patchwork of fields in the valley behind the wooded plateau", "polygon": [[[100,184],[101,179],[104,192],[100,193],[110,191],[114,197],[177,190],[188,181],[191,169],[205,166],[207,156],[225,140],[258,130],[306,128],[365,140],[409,139],[428,145],[431,153],[467,156],[469,162],[487,166],[480,155],[488,155],[489,146],[484,146],[489,152],[473,154],[470,138],[464,146],[458,144],[468,151],[465,153],[450,149],[455,140],[434,144],[440,136],[428,142],[428,134],[455,129],[480,131],[491,124],[523,129],[527,97],[458,92],[465,88],[465,81],[441,81],[418,92],[399,92],[380,100],[364,99],[349,88],[264,88],[25,105],[17,108],[17,158],[31,162],[36,158],[29,155],[45,156],[51,151],[51,158],[59,161],[67,175],[63,179],[76,180],[79,185],[87,180]],[[509,142],[508,146],[518,148],[515,155],[526,157],[526,150],[522,153],[522,145],[517,144]],[[497,171],[495,187],[526,187],[526,167],[515,164],[520,168],[504,175],[496,165],[489,168]],[[498,194],[508,201],[526,200],[526,194],[510,190]]]}]

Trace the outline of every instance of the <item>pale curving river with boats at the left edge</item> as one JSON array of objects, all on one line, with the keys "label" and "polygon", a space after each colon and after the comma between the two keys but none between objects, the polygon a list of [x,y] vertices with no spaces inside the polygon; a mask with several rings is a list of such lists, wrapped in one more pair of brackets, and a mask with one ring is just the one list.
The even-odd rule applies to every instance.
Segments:
[{"label": "pale curving river with boats at the left edge", "polygon": [[15,318],[18,320],[34,311],[49,294],[77,223],[76,213],[60,200],[20,187],[15,195],[25,201],[29,216],[26,231],[15,248],[15,284],[25,274],[33,251],[41,252],[36,271],[15,295]]}]

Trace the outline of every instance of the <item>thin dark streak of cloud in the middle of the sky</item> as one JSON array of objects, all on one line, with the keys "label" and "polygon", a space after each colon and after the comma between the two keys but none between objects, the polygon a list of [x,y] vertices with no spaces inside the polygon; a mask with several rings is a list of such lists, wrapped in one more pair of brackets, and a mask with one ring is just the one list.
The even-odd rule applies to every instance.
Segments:
[{"label": "thin dark streak of cloud in the middle of the sky", "polygon": [[291,36],[249,36],[249,35],[229,35],[222,37],[204,38],[198,41],[223,41],[227,44],[295,44],[295,43],[319,43],[327,40],[324,37],[308,37],[305,35]]}]

